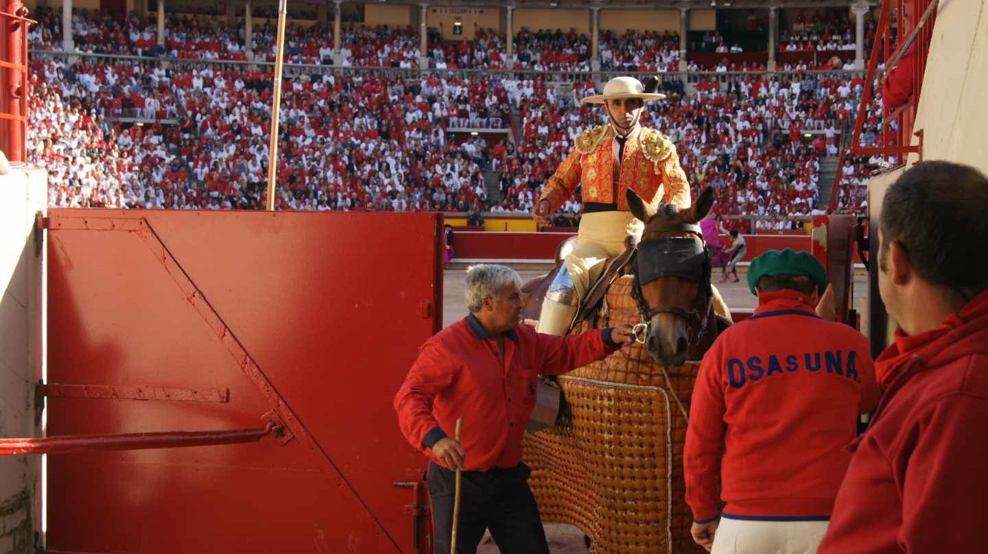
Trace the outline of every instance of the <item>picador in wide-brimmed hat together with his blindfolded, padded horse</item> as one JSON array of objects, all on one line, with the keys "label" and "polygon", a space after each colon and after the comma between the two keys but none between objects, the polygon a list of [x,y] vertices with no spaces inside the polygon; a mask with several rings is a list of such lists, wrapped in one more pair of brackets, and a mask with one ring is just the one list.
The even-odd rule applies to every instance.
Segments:
[{"label": "picador in wide-brimmed hat together with his blindfolded, padded horse", "polygon": [[638,344],[540,385],[524,443],[542,519],[579,526],[598,554],[699,548],[682,448],[699,360],[730,324],[698,224],[712,191],[691,201],[676,147],[639,124],[657,84],[617,77],[584,99],[609,123],[579,135],[534,214],[546,224],[582,186],[579,232],[524,287],[540,333],[635,326]]}]

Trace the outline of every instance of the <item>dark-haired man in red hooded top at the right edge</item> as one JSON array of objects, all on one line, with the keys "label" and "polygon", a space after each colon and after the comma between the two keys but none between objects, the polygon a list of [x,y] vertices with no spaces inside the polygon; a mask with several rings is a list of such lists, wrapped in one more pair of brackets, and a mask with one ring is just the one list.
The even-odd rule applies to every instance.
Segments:
[{"label": "dark-haired man in red hooded top at the right edge", "polygon": [[884,394],[820,554],[979,550],[988,521],[988,179],[924,162],[888,189],[878,291],[898,322]]}]

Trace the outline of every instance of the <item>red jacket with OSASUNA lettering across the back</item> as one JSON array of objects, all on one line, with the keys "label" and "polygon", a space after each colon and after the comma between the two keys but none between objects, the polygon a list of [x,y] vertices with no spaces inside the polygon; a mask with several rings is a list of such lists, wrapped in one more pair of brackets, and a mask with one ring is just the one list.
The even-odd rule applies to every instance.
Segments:
[{"label": "red jacket with OSASUNA lettering across the back", "polygon": [[763,292],[703,356],[683,455],[697,521],[825,519],[857,416],[878,396],[864,335],[816,316],[795,290]]}]

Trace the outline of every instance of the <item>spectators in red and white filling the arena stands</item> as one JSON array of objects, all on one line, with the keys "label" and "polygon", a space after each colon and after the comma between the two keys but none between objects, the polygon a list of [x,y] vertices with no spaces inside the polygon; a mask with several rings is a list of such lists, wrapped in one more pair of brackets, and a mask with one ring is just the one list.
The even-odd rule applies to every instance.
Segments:
[{"label": "spectators in red and white filling the arena stands", "polygon": [[[44,18],[47,24],[33,31],[32,40],[54,47],[60,41],[56,20],[50,13]],[[86,30],[77,35],[77,43],[90,50],[110,51],[114,43],[136,48],[127,50],[133,53],[147,47],[142,31],[136,38],[128,34],[128,29],[139,29],[135,18],[122,25],[112,18],[76,19],[81,19],[77,28]],[[203,40],[208,30],[221,28],[207,20],[188,20],[169,35],[177,41],[170,44],[208,44],[188,50],[194,52],[234,51],[224,49],[214,36]],[[256,28],[257,55],[267,47],[263,29]],[[402,33],[348,35],[344,53],[358,65],[411,63],[417,40]],[[293,46],[297,55],[317,62],[331,56],[331,40],[316,36],[309,43],[306,35],[299,35]],[[464,43],[437,45],[430,53],[432,63],[503,63],[494,55],[503,46],[496,34],[479,32],[477,40]],[[589,64],[589,43],[577,36],[524,32],[519,44],[519,59],[533,67]],[[678,66],[679,39],[673,35],[605,33],[601,44],[602,64],[609,69],[658,72]],[[647,55],[636,53],[640,51]],[[69,66],[54,56],[36,56],[32,68],[29,150],[32,160],[51,172],[52,205],[263,205],[270,68],[243,71],[243,66],[195,61],[166,66],[86,57]],[[643,123],[676,142],[695,193],[715,187],[718,213],[772,216],[778,222],[767,225],[781,227],[788,224],[786,216],[821,207],[819,160],[837,155],[840,121],[854,110],[862,86],[860,80],[833,75],[754,75],[703,78],[696,92],[687,95],[682,82],[671,79],[663,84],[669,99],[650,104]],[[316,210],[529,212],[578,132],[604,122],[599,108],[579,103],[594,94],[594,87],[579,81],[571,92],[562,93],[541,78],[444,73],[411,78],[346,69],[292,75],[283,92],[279,180],[284,187],[277,203]],[[512,125],[512,113],[521,121],[514,129],[517,142],[487,144],[476,137],[457,143],[445,132],[453,127],[505,128]],[[111,122],[120,117],[147,123]],[[813,131],[815,138],[806,139],[804,131]],[[857,164],[852,160],[852,167]],[[484,170],[498,175],[498,202],[488,201]],[[848,175],[849,183],[861,175]],[[848,197],[842,197],[841,209],[860,207],[854,188],[840,191]],[[578,213],[580,201],[572,198],[563,211]]]}]

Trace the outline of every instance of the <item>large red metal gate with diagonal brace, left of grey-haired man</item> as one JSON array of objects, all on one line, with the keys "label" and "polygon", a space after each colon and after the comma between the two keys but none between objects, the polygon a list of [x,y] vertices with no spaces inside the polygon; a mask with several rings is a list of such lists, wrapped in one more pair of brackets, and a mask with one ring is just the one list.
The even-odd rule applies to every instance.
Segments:
[{"label": "large red metal gate with diagonal brace, left of grey-haired man", "polygon": [[391,398],[442,322],[440,215],[49,215],[47,435],[287,430],[49,456],[49,552],[431,552]]}]

